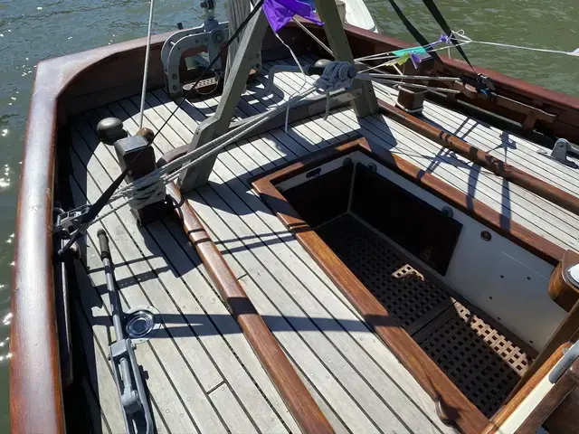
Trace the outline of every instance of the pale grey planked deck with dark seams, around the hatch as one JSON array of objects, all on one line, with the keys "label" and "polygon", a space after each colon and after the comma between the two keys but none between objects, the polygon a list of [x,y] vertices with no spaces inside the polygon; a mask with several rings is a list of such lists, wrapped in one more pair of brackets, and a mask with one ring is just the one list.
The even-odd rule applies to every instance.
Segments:
[{"label": "pale grey planked deck with dark seams, around the hatch", "polygon": [[[264,68],[268,71],[271,66]],[[236,115],[259,113],[287,99],[299,86],[295,76],[276,74],[274,94],[260,97],[250,87]],[[389,100],[394,91],[377,87],[376,92]],[[218,101],[219,97],[185,102],[157,137],[156,155],[187,144]],[[175,107],[164,90],[149,92],[145,126],[157,131]],[[70,185],[76,205],[94,202],[120,173],[114,149],[96,137],[100,118],[118,117],[134,134],[137,114],[136,96],[90,110],[71,122]],[[425,116],[511,165],[577,194],[577,171],[538,156],[539,146],[432,103],[426,103]],[[391,118],[356,119],[352,109],[337,110],[327,121],[308,118],[287,133],[276,128],[230,146],[218,157],[210,182],[187,194],[337,432],[453,432],[438,419],[433,401],[420,385],[247,182],[253,175],[358,134],[564,248],[579,249],[579,218]],[[113,332],[96,238],[100,227],[110,235],[123,309],[153,306],[163,319],[157,335],[137,349],[138,362],[147,372],[157,431],[298,432],[178,223],[166,218],[139,228],[127,208],[90,227],[83,265],[76,269],[81,297],[71,310],[79,325],[81,350],[94,365],[81,373],[93,430],[123,431],[106,359]]]}]

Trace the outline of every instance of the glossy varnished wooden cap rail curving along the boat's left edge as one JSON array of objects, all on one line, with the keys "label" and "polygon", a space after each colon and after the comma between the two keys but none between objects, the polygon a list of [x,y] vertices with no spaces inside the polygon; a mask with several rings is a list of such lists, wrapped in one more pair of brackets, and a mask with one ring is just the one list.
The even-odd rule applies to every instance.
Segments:
[{"label": "glossy varnished wooden cap rail curving along the boat's left edge", "polygon": [[[153,37],[158,47],[165,35]],[[10,418],[13,433],[62,433],[64,415],[52,280],[52,201],[59,111],[83,72],[144,54],[147,39],[71,54],[38,64],[30,102],[20,192],[10,331]],[[137,55],[138,57],[138,55]],[[98,89],[94,89],[98,91]],[[62,107],[61,107],[62,108]],[[59,118],[60,116],[60,118]]]}]

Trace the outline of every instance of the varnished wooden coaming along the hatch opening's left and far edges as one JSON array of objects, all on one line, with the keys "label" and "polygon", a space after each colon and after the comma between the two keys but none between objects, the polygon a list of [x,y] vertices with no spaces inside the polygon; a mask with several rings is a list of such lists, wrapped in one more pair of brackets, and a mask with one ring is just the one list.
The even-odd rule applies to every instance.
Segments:
[{"label": "varnished wooden coaming along the hatch opening's left and far edges", "polygon": [[[273,184],[296,175],[298,172],[308,170],[308,166],[319,165],[320,162],[323,163],[341,154],[356,150],[370,152],[367,146],[365,139],[362,138],[345,145],[324,149],[319,154],[306,156],[294,165],[289,165],[254,181],[252,183],[253,188],[277,213],[281,221],[295,233],[304,249],[318,262],[318,265],[337,285],[337,288],[364,316],[368,325],[373,327],[384,344],[393,351],[403,366],[436,402],[437,408],[440,409],[441,419],[451,420],[463,432],[478,434],[488,425],[489,420],[442,373],[441,369],[422,351],[413,338],[396,323],[384,306],[347,269],[316,232],[311,230],[308,223],[301,219]],[[390,156],[394,158],[394,156]],[[397,161],[397,163],[402,164],[403,162]]]}]

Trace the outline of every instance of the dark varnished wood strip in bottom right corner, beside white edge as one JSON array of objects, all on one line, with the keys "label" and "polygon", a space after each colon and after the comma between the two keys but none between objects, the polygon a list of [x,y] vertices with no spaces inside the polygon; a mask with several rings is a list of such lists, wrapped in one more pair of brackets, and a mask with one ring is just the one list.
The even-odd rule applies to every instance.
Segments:
[{"label": "dark varnished wood strip in bottom right corner, beside white edge", "polygon": [[547,392],[545,398],[539,402],[527,419],[518,427],[515,434],[535,434],[549,415],[565,400],[569,393],[577,387],[579,360],[565,371],[561,378],[555,382],[553,388]]}]

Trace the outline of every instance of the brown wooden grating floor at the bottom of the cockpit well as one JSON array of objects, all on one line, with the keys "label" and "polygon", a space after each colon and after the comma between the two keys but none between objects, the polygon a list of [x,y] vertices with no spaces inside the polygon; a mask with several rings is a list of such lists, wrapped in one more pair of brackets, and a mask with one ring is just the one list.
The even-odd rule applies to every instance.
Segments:
[{"label": "brown wooden grating floor at the bottom of the cockpit well", "polygon": [[530,356],[355,217],[346,214],[317,232],[460,391],[492,416]]}]

